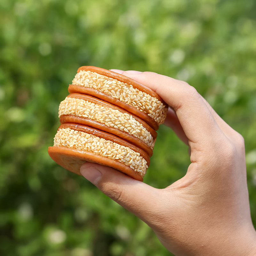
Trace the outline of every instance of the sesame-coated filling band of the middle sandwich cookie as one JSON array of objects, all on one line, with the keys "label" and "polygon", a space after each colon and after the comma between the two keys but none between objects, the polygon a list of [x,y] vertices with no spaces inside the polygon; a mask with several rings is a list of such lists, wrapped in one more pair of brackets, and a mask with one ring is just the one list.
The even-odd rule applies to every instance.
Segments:
[{"label": "sesame-coated filling band of the middle sandwich cookie", "polygon": [[145,142],[150,148],[154,148],[155,140],[151,133],[132,115],[122,113],[118,109],[107,108],[88,100],[66,97],[59,107],[59,117],[62,115],[75,115],[95,120],[108,127],[127,132]]}]

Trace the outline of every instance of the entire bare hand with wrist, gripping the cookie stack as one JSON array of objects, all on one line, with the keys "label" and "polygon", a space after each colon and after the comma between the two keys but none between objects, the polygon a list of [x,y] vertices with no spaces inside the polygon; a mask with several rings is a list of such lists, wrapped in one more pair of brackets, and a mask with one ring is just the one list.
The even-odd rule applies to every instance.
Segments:
[{"label": "entire bare hand with wrist, gripping the cookie stack", "polygon": [[144,84],[171,107],[165,124],[189,145],[186,175],[164,189],[85,163],[82,175],[145,221],[177,256],[256,255],[243,137],[189,84],[152,72],[113,70]]}]

